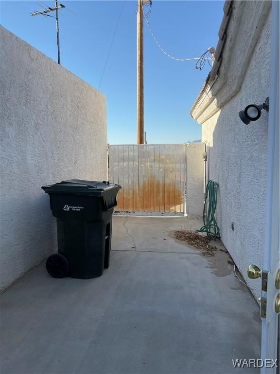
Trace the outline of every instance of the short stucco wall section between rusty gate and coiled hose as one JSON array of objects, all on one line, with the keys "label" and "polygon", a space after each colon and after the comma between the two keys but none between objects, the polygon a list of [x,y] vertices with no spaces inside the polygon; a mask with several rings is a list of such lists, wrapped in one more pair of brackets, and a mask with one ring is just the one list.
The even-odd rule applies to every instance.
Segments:
[{"label": "short stucco wall section between rusty gate and coiled hose", "polygon": [[187,144],[186,211],[189,218],[203,217],[205,143]]}]

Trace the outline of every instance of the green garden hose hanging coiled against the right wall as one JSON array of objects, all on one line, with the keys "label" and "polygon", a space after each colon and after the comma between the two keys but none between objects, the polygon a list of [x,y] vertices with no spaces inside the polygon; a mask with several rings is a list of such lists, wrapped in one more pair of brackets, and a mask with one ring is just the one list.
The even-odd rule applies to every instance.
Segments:
[{"label": "green garden hose hanging coiled against the right wall", "polygon": [[[204,226],[200,230],[195,232],[206,232],[207,236],[210,236],[212,239],[220,239],[220,229],[215,219],[215,211],[217,206],[217,186],[218,184],[213,181],[207,183],[205,198],[204,198],[204,208],[203,208],[203,223]],[[206,216],[206,204],[207,199],[209,201],[207,216]]]}]

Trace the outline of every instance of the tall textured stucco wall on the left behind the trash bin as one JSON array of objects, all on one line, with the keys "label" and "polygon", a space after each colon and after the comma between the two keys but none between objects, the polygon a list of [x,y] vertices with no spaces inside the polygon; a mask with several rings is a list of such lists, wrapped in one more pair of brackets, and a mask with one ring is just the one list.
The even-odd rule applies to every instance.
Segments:
[{"label": "tall textured stucco wall on the left behind the trash bin", "polygon": [[1,27],[0,288],[56,249],[41,186],[107,178],[105,96]]}]

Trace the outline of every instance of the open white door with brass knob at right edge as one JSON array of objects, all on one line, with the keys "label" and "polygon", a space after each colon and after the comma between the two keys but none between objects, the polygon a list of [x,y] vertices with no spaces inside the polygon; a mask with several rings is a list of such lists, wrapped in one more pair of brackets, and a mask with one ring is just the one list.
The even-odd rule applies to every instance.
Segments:
[{"label": "open white door with brass knob at right edge", "polygon": [[[262,271],[250,267],[251,277],[262,277],[261,318],[262,374],[277,371],[277,343],[280,305],[279,241],[279,1],[272,1],[271,78],[268,120],[268,168],[266,192],[265,248]],[[255,276],[254,276],[255,272]],[[278,363],[279,365],[279,363]]]}]

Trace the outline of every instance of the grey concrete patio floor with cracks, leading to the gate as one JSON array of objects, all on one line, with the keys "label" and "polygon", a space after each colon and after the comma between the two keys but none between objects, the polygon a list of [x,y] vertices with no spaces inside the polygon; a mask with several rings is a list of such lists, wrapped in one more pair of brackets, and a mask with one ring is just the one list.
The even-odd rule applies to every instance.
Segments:
[{"label": "grey concrete patio floor with cracks, leading to the gate", "polygon": [[53,279],[44,263],[1,298],[1,374],[229,374],[259,358],[259,306],[235,279],[221,243],[213,257],[175,241],[184,217],[113,218],[109,269]]}]

